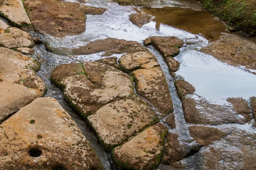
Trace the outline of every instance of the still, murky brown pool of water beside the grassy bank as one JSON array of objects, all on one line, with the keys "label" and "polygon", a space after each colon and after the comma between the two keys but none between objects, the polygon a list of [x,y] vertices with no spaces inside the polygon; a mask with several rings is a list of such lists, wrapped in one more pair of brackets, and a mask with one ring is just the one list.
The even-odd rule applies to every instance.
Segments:
[{"label": "still, murky brown pool of water beside the grassy bank", "polygon": [[210,41],[219,40],[221,35],[229,33],[224,24],[211,16],[208,11],[179,7],[142,8],[142,10],[155,17],[153,21],[156,22],[158,30],[160,24],[166,24],[192,34],[201,34]]}]

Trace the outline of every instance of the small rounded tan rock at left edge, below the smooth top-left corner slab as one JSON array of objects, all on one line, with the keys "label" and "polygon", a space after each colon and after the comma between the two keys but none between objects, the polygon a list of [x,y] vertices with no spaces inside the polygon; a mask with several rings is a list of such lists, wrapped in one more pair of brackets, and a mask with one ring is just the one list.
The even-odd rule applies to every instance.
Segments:
[{"label": "small rounded tan rock at left edge, below the smooth top-left corner slab", "polygon": [[17,47],[34,47],[35,43],[32,40],[28,40],[25,37],[3,33],[0,34],[0,45],[7,48],[17,48]]}]

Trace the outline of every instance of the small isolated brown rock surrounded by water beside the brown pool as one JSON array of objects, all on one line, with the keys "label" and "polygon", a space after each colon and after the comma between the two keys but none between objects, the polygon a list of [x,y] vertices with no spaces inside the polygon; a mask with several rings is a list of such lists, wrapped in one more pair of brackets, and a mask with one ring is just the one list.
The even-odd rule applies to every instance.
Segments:
[{"label": "small isolated brown rock surrounded by water beside the brown pool", "polygon": [[151,19],[152,19],[152,16],[147,13],[140,13],[140,14],[135,13],[135,14],[129,15],[129,20],[131,21],[131,23],[133,23],[138,27],[142,27],[146,23],[149,23]]}]

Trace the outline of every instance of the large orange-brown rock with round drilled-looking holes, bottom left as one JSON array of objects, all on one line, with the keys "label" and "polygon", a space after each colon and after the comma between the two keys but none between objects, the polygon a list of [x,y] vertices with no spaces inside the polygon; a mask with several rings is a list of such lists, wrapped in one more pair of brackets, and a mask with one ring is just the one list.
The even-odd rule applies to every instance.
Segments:
[{"label": "large orange-brown rock with round drilled-looking holes, bottom left", "polygon": [[69,114],[53,98],[35,99],[0,126],[0,167],[104,169]]}]

